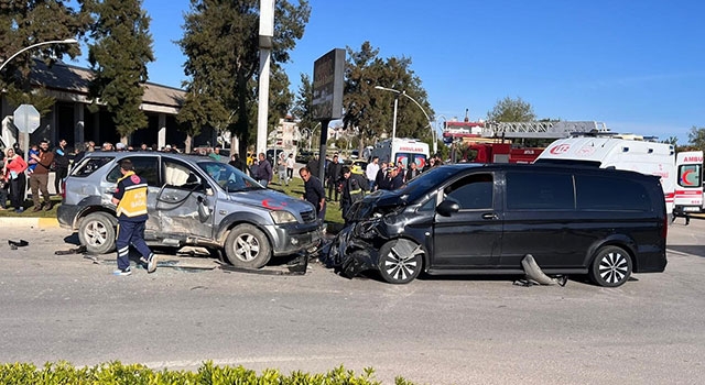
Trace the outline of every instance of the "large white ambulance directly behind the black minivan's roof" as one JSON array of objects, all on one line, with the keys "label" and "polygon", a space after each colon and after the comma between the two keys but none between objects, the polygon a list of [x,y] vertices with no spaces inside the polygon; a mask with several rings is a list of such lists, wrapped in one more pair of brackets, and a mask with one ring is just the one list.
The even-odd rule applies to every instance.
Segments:
[{"label": "large white ambulance directly behind the black minivan's roof", "polygon": [[560,139],[551,143],[534,163],[581,163],[660,176],[670,215],[675,195],[675,148],[672,144],[638,138],[623,139],[614,134]]}]

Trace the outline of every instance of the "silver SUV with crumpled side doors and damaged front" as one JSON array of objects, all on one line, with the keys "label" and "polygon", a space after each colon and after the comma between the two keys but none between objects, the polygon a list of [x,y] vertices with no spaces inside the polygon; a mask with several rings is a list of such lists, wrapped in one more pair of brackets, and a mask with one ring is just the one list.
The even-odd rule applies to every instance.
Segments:
[{"label": "silver SUV with crumpled side doors and damaged front", "polygon": [[94,152],[64,180],[56,212],[59,224],[77,230],[90,253],[115,250],[110,198],[126,158],[149,184],[144,238],[151,245],[225,250],[232,265],[259,268],[272,255],[305,251],[321,240],[311,204],[267,189],[228,164],[159,152]]}]

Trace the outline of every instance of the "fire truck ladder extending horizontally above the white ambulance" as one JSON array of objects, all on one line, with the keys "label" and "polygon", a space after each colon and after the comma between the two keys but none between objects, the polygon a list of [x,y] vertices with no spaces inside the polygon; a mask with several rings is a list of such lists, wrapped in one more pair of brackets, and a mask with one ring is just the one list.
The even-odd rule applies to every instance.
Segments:
[{"label": "fire truck ladder extending horizontally above the white ambulance", "polygon": [[573,133],[610,132],[601,122],[488,122],[482,127],[485,138],[561,139]]}]

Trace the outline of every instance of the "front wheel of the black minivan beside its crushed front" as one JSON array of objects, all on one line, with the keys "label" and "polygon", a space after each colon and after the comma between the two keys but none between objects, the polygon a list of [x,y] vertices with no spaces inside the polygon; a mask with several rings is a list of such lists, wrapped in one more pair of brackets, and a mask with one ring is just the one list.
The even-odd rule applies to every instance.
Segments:
[{"label": "front wheel of the black minivan beside its crushed front", "polygon": [[390,284],[408,284],[419,276],[423,250],[409,240],[393,240],[379,249],[379,272]]}]

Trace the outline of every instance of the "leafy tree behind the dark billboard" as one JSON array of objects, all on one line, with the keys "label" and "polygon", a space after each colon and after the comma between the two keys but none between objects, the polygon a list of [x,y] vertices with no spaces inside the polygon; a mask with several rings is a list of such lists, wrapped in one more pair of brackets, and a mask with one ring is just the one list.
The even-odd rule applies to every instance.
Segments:
[{"label": "leafy tree behind the dark billboard", "polygon": [[[432,117],[426,91],[421,79],[411,69],[411,59],[406,57],[379,58],[379,50],[369,42],[362,43],[359,52],[348,47],[348,63],[345,70],[345,95],[343,98],[345,128],[358,128],[362,146],[372,144],[383,133],[392,134],[393,105],[398,98],[397,136],[417,138],[432,141],[432,131],[423,111],[410,98],[416,100]],[[376,89],[376,86],[391,88],[393,91]]]}]

